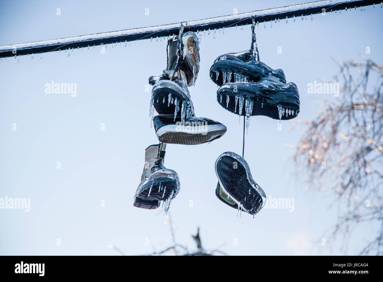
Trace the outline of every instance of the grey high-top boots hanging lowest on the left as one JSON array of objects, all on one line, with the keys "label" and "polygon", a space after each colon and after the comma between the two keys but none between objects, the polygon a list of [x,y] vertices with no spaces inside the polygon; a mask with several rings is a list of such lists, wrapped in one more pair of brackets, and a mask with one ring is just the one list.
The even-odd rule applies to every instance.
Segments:
[{"label": "grey high-top boots hanging lowest on the left", "polygon": [[170,204],[178,194],[180,180],[177,172],[164,167],[165,147],[165,143],[160,143],[145,149],[145,166],[141,183],[134,195],[134,206],[158,208],[159,201],[167,201]]}]

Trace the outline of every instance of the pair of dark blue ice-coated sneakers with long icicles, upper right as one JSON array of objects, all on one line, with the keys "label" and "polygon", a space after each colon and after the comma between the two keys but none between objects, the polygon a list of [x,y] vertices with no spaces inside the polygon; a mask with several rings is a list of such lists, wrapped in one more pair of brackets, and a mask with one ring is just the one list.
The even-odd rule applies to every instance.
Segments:
[{"label": "pair of dark blue ice-coated sneakers with long icicles, upper right", "polygon": [[219,56],[210,68],[219,87],[217,101],[232,113],[293,119],[300,111],[298,88],[282,69],[251,59],[250,51]]}]

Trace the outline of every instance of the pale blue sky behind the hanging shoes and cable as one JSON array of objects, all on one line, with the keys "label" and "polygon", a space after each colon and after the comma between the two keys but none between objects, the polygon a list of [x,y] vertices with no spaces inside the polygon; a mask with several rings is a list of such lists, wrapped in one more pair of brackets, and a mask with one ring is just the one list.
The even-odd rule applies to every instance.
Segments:
[{"label": "pale blue sky behind the hanging shoes and cable", "polygon": [[[285,1],[1,1],[0,45],[64,38],[105,31],[161,25],[229,15],[296,3]],[[61,16],[56,9],[61,9]],[[149,8],[149,16],[144,9]],[[320,95],[307,94],[307,84],[337,71],[331,58],[383,61],[383,10],[316,15],[256,27],[260,59],[282,68],[301,96],[300,118],[311,118]],[[180,178],[181,190],[170,206],[177,241],[195,248],[191,234],[201,228],[203,246],[232,255],[339,254],[340,242],[319,238],[332,226],[336,209],[330,199],[311,195],[296,184],[284,162],[301,132],[288,131],[289,121],[253,117],[246,136],[245,158],[255,181],[268,197],[294,198],[295,211],[264,209],[255,218],[219,201],[214,193],[214,162],[223,152],[242,151],[242,123],[216,102],[209,69],[224,53],[250,47],[250,26],[202,37],[200,74],[190,88],[196,114],[218,120],[226,134],[210,144],[168,145],[165,166]],[[365,54],[369,46],[371,53]],[[282,54],[277,48],[282,47]],[[132,42],[61,53],[36,54],[0,61],[0,198],[30,198],[31,211],[0,209],[2,255],[116,255],[160,250],[170,244],[162,210],[133,207],[144,166],[144,149],[157,141],[150,127],[148,78],[166,67],[166,42]],[[77,96],[46,94],[51,81],[77,83]],[[326,98],[332,99],[331,96]],[[341,99],[341,97],[339,97]],[[277,109],[276,109],[277,110]],[[12,130],[12,124],[17,130]],[[100,124],[105,124],[105,131]],[[61,169],[56,169],[61,162]],[[306,173],[302,171],[301,173]],[[100,201],[105,201],[105,208]],[[193,207],[189,207],[190,200]],[[373,229],[355,233],[349,254],[356,254]],[[56,239],[61,246],[56,246]],[[145,245],[149,239],[149,246]],[[237,239],[237,246],[233,244]],[[317,241],[316,241],[317,240]],[[330,249],[332,248],[332,252]]]}]

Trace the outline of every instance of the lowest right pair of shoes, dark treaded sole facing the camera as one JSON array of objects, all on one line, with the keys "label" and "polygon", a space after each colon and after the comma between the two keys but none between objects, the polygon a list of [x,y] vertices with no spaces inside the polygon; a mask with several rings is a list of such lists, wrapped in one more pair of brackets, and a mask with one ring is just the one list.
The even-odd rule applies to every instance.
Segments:
[{"label": "lowest right pair of shoes, dark treaded sole facing the camera", "polygon": [[221,154],[215,163],[218,177],[216,196],[233,208],[252,214],[262,209],[266,194],[253,180],[244,158],[233,152]]}]

